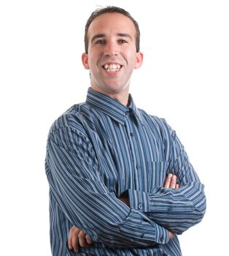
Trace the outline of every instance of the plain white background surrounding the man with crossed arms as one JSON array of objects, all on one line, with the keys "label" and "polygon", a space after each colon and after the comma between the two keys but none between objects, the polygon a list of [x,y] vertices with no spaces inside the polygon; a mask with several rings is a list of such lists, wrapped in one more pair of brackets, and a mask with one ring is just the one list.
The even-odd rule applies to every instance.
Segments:
[{"label": "plain white background surrounding the man with crossed arms", "polygon": [[50,256],[47,132],[85,101],[84,26],[99,5],[139,21],[144,64],[131,94],[176,129],[206,186],[207,211],[184,256],[228,251],[228,1],[10,1],[0,4],[0,255]]}]

